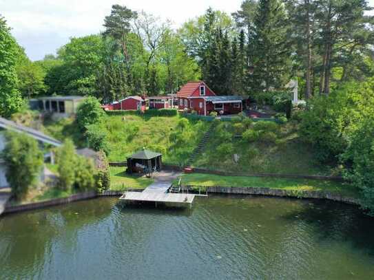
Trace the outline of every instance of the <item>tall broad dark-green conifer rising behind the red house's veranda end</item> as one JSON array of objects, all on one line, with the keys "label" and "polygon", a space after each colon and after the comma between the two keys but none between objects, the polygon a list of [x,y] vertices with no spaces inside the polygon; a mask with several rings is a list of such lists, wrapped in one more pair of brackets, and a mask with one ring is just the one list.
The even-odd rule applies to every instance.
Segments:
[{"label": "tall broad dark-green conifer rising behind the red house's veranda end", "polygon": [[249,44],[249,76],[252,89],[284,87],[291,76],[290,28],[284,6],[279,0],[260,0],[254,19],[253,42]]}]

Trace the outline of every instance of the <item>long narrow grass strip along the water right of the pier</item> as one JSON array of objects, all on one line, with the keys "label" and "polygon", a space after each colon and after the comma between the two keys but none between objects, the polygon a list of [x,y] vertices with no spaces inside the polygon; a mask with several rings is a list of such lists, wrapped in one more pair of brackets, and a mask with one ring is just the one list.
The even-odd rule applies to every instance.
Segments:
[{"label": "long narrow grass strip along the water right of the pier", "polygon": [[358,197],[358,189],[351,184],[324,180],[283,179],[267,177],[221,176],[202,173],[185,174],[182,184],[190,186],[263,187],[290,191],[328,191],[346,197]]}]

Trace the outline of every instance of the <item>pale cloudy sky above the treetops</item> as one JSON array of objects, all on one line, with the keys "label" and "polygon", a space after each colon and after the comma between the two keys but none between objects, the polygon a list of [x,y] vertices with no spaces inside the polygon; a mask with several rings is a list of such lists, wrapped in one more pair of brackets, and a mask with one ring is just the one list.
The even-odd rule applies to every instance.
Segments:
[{"label": "pale cloudy sky above the treetops", "polygon": [[[103,31],[104,17],[112,4],[144,10],[170,19],[178,28],[183,22],[203,14],[209,6],[227,13],[240,8],[242,0],[0,0],[0,14],[12,28],[18,43],[32,60],[56,49],[72,36]],[[374,0],[369,1],[374,6]]]}]

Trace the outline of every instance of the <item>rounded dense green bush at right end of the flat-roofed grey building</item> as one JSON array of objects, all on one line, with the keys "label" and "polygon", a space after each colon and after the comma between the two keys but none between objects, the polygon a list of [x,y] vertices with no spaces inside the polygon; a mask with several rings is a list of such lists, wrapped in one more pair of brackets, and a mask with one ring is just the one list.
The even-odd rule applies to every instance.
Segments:
[{"label": "rounded dense green bush at right end of the flat-roofed grey building", "polygon": [[103,116],[104,111],[94,97],[86,98],[76,112],[76,120],[82,130],[85,130],[88,125],[100,124],[103,121]]}]

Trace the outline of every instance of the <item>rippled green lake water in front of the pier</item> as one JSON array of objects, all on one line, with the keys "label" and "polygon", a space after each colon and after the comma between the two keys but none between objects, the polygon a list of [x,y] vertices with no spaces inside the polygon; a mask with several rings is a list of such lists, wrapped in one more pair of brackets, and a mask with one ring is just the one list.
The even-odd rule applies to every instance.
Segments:
[{"label": "rippled green lake water in front of the pier", "polygon": [[374,219],[273,197],[74,202],[0,217],[0,279],[374,279]]}]

